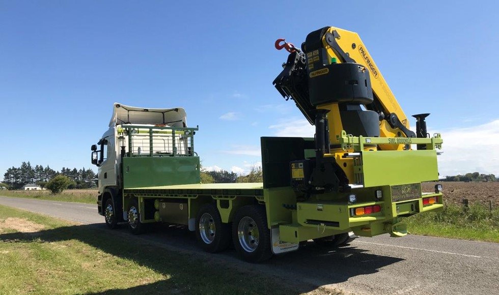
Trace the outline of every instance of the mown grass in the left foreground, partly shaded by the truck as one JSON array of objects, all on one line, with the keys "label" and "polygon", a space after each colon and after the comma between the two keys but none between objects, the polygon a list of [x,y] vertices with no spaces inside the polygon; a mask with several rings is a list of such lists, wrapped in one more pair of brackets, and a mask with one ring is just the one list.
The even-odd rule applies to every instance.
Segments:
[{"label": "mown grass in the left foreground, partly shaded by the truck", "polygon": [[[43,229],[12,229],[23,224]],[[216,260],[0,205],[0,294],[323,293]]]}]

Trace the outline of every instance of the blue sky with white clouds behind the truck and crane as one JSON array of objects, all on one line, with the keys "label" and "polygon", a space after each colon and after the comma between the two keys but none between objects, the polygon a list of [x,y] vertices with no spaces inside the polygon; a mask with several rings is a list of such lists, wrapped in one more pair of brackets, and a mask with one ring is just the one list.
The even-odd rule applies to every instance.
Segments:
[{"label": "blue sky with white clouds behind the truck and crane", "polygon": [[[240,172],[260,136],[313,135],[272,86],[326,25],[357,32],[406,115],[430,112],[443,175],[499,174],[495,2],[0,1],[0,179],[22,161],[90,167],[114,102],[184,107],[206,167]],[[414,125],[414,122],[411,122]],[[446,137],[447,135],[447,137]],[[483,141],[483,142],[481,142]]]}]

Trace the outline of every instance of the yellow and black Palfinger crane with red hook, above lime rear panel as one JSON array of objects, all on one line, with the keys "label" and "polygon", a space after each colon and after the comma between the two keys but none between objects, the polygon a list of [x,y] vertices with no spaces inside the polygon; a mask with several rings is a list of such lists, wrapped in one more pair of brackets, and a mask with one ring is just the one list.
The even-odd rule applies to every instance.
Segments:
[{"label": "yellow and black Palfinger crane with red hook, above lime rear panel", "polygon": [[[290,54],[273,84],[313,125],[317,111],[327,110],[320,111],[329,134],[326,150],[338,149],[336,136],[342,130],[355,136],[426,137],[425,130],[417,136],[409,129],[407,116],[356,33],[326,26],[308,34],[301,50],[283,41],[278,39],[275,48],[286,48]],[[415,116],[424,123],[427,115]],[[410,149],[405,144],[378,147]]]}]

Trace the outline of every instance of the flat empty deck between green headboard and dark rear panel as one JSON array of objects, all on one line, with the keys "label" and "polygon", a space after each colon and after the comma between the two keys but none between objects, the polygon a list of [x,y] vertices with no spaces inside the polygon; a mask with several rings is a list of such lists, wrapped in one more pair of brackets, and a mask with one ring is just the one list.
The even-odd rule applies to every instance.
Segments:
[{"label": "flat empty deck between green headboard and dark rear panel", "polygon": [[263,196],[263,183],[186,184],[124,189],[125,194],[141,196]]}]

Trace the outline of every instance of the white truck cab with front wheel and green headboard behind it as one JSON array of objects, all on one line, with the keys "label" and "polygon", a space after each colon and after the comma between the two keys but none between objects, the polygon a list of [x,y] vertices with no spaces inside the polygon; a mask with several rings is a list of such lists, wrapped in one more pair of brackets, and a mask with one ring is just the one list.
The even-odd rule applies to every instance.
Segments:
[{"label": "white truck cab with front wheel and green headboard behind it", "polygon": [[[128,184],[134,185],[199,183],[199,157],[193,151],[192,137],[197,128],[189,129],[186,126],[183,108],[140,108],[114,104],[109,129],[91,147],[92,164],[98,167],[98,212],[105,216],[110,227],[127,220],[126,212],[123,213],[121,209],[124,174],[133,175],[125,178],[128,178]],[[158,165],[153,164],[157,169],[149,170],[141,167],[142,164],[133,163],[137,162],[133,160],[140,158],[141,163],[145,162],[145,157],[152,156],[164,158],[163,161],[172,158],[170,162],[189,157],[191,161],[187,161],[189,168],[186,169],[189,175],[184,175],[183,180],[178,175],[169,175],[173,180],[163,181],[161,175],[164,176],[164,171],[156,173],[162,169]],[[125,157],[132,163],[127,163],[123,169]],[[185,180],[190,177],[189,181]]]}]

